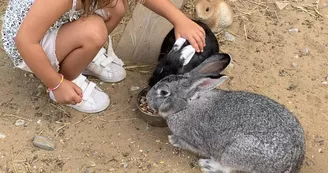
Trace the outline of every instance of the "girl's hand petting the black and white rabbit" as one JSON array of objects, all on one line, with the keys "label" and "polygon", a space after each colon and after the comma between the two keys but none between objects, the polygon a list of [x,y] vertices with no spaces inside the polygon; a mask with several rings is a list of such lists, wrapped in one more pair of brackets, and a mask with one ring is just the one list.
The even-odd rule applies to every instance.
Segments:
[{"label": "girl's hand petting the black and white rabbit", "polygon": [[205,47],[205,31],[194,21],[189,18],[179,20],[175,24],[175,38],[183,37],[196,49],[197,52],[202,52]]}]

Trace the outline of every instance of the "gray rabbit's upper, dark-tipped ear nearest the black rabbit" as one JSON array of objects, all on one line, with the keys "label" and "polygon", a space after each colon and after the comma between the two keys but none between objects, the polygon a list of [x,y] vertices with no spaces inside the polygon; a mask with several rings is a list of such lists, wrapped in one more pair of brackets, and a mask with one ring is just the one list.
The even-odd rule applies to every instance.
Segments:
[{"label": "gray rabbit's upper, dark-tipped ear nearest the black rabbit", "polygon": [[229,54],[215,54],[190,71],[188,75],[200,77],[219,76],[230,62],[231,56]]}]

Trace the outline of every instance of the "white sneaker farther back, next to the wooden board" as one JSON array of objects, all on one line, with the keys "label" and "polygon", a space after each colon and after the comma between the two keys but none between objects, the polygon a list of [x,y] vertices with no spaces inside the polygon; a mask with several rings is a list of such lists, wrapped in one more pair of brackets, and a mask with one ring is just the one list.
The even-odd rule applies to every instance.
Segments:
[{"label": "white sneaker farther back, next to the wooden board", "polygon": [[126,77],[124,62],[114,53],[112,39],[108,37],[108,50],[101,48],[83,74],[99,78],[104,82],[119,82]]}]

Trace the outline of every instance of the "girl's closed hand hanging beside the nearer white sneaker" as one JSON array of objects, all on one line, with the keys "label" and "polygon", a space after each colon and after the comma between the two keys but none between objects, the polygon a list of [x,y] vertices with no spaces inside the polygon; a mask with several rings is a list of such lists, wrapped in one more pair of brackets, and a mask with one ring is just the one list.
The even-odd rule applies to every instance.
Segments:
[{"label": "girl's closed hand hanging beside the nearer white sneaker", "polygon": [[75,83],[65,80],[58,89],[53,91],[56,101],[60,104],[76,105],[82,101],[82,90]]}]

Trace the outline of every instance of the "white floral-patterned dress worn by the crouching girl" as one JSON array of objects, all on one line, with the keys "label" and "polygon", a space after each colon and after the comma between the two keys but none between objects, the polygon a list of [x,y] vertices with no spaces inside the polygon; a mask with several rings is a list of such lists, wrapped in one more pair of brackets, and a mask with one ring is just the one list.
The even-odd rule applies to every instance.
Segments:
[{"label": "white floral-patterned dress worn by the crouching girl", "polygon": [[[33,1],[34,0],[9,0],[8,2],[2,25],[2,43],[4,50],[13,61],[14,66],[19,66],[23,62],[23,58],[16,48],[15,37]],[[72,22],[80,18],[81,15],[82,11],[76,10],[76,0],[72,0],[72,9],[59,18],[47,32],[51,32],[67,22]]]}]

